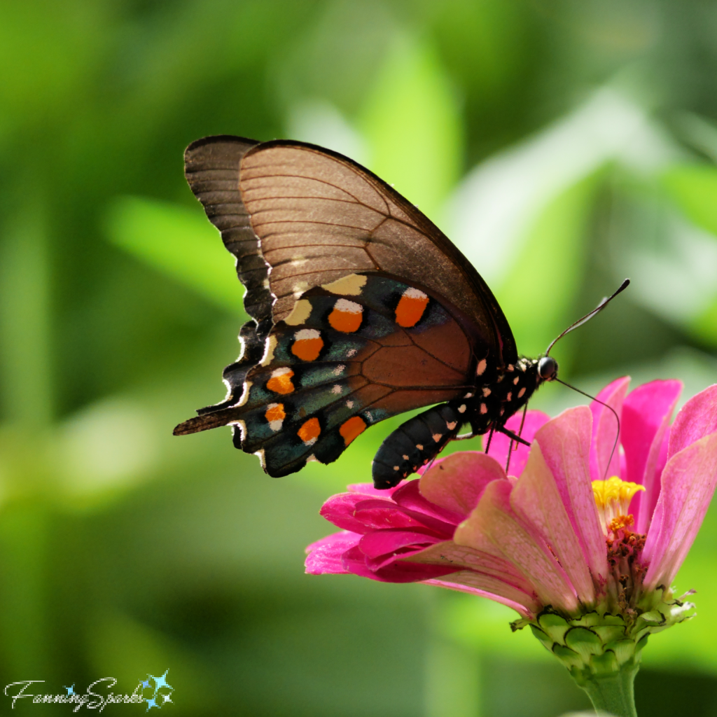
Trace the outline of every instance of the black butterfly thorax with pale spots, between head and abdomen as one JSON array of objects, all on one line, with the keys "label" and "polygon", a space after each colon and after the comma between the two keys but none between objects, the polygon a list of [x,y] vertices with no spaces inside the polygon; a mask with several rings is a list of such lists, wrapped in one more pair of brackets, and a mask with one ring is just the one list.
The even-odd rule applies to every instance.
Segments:
[{"label": "black butterfly thorax with pale spots, between head and abdomen", "polygon": [[540,386],[537,359],[518,359],[505,368],[490,369],[488,362],[479,361],[475,390],[467,391],[462,399],[450,402],[452,408],[465,417],[474,435],[482,435],[491,427],[503,426]]}]

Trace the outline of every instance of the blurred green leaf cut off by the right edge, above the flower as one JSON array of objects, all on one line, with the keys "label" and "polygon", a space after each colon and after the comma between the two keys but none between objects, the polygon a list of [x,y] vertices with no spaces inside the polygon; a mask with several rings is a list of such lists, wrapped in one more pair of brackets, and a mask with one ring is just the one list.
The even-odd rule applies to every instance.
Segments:
[{"label": "blurred green leaf cut off by the right edge, above the flower", "polygon": [[662,179],[687,217],[717,236],[717,168],[708,164],[672,166]]}]

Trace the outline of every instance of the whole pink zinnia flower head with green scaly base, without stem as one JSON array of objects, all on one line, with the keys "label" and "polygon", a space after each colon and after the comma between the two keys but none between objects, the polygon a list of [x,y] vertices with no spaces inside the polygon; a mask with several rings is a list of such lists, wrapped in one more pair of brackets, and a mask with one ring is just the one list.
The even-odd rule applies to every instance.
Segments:
[{"label": "whole pink zinnia flower head with green scaly base, without stem", "polygon": [[488,597],[576,679],[628,664],[634,676],[646,635],[693,614],[670,586],[715,490],[717,386],[670,426],[680,381],[626,396],[629,382],[599,394],[620,416],[614,452],[617,422],[597,402],[554,419],[530,411],[532,445],[513,452],[509,476],[509,440],[495,435],[490,455],[455,453],[392,490],[334,495],[321,514],[343,530],[308,546],[306,571]]}]

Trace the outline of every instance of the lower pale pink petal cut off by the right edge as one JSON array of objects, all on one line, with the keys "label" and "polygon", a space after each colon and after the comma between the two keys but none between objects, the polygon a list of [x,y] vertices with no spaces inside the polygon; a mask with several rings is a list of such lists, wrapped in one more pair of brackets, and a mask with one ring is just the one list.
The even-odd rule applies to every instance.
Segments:
[{"label": "lower pale pink petal cut off by the right edge", "polygon": [[665,465],[643,560],[645,587],[670,587],[707,512],[717,482],[717,432],[673,455]]}]

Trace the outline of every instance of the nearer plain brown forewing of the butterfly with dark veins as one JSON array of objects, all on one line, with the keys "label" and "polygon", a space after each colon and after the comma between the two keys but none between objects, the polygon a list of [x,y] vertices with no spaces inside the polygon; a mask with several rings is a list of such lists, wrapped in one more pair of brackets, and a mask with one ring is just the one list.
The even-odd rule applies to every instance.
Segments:
[{"label": "nearer plain brown forewing of the butterfly with dark veins", "polygon": [[445,296],[499,362],[516,361],[508,322],[475,268],[366,168],[313,145],[267,142],[242,157],[239,188],[271,267],[275,322],[305,290],[374,270]]}]

